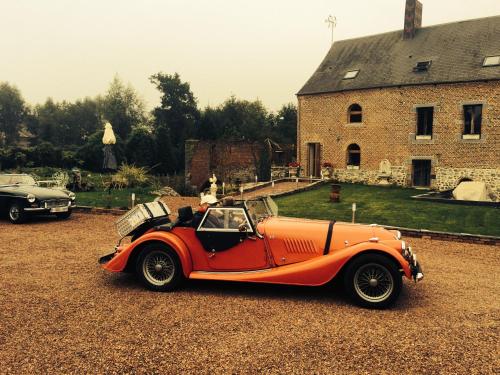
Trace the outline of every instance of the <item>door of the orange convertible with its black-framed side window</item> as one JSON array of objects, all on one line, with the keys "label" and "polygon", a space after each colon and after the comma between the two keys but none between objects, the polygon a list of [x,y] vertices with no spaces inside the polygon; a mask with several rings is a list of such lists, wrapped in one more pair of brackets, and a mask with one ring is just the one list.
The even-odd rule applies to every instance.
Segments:
[{"label": "door of the orange convertible with its black-framed side window", "polygon": [[242,207],[213,207],[196,229],[209,267],[213,271],[257,270],[268,267],[262,238]]}]

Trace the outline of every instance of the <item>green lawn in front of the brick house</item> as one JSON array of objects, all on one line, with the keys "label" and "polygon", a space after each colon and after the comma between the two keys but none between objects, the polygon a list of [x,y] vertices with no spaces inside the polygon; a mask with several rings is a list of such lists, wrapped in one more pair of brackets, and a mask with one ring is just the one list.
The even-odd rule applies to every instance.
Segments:
[{"label": "green lawn in front of the brick house", "polygon": [[341,184],[341,202],[329,201],[330,185],[276,198],[280,215],[351,221],[415,229],[500,236],[500,209],[411,199],[422,190]]}]

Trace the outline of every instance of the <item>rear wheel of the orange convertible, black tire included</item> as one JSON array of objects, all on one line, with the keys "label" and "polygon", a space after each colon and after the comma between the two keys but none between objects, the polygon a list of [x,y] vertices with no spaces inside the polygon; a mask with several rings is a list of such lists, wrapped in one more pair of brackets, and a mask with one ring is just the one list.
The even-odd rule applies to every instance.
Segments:
[{"label": "rear wheel of the orange convertible, black tire included", "polygon": [[169,292],[184,280],[179,257],[168,246],[151,243],[137,257],[136,273],[150,290]]}]

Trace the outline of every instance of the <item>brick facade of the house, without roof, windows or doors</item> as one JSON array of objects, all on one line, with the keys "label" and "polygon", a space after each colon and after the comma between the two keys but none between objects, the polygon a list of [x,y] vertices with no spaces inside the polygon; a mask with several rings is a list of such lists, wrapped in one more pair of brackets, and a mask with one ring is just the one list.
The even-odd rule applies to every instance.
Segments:
[{"label": "brick facade of the house, without roof, windows or doors", "polygon": [[[363,121],[348,123],[357,103]],[[481,139],[464,140],[463,105],[482,104]],[[417,108],[434,107],[431,140],[416,140]],[[392,165],[391,182],[412,184],[412,160],[431,160],[431,187],[451,188],[447,169],[468,170],[500,195],[500,81],[381,88],[299,96],[298,159],[307,165],[307,144],[321,143],[321,162],[334,164],[339,179],[376,183],[379,163]],[[347,169],[347,147],[361,148],[359,170]],[[305,171],[307,173],[307,171]],[[450,179],[446,177],[446,179]]]}]

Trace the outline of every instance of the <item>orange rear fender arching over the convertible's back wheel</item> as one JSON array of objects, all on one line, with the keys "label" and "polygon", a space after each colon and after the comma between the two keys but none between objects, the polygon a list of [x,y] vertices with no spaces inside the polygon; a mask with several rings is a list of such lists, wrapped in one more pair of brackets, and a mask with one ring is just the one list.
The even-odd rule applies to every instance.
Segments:
[{"label": "orange rear fender arching over the convertible's back wheel", "polygon": [[123,250],[117,252],[115,256],[102,267],[111,272],[122,272],[127,267],[129,259],[133,258],[140,252],[141,249],[148,242],[163,242],[172,250],[174,250],[179,257],[179,260],[182,265],[182,272],[184,276],[188,277],[191,271],[193,270],[193,262],[191,260],[191,255],[189,250],[179,237],[177,237],[172,232],[149,232],[145,235],[141,236],[130,245],[125,247]]}]

